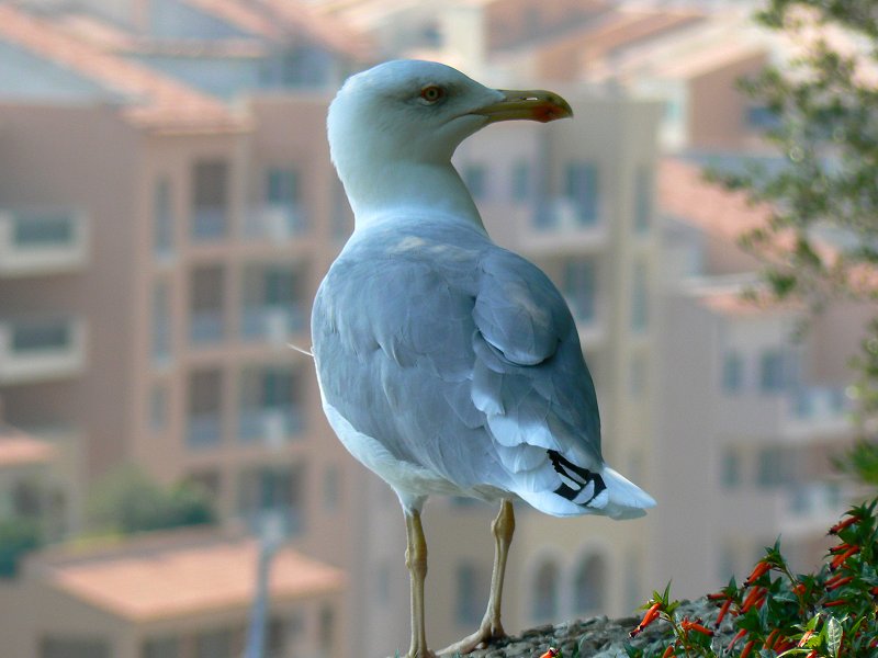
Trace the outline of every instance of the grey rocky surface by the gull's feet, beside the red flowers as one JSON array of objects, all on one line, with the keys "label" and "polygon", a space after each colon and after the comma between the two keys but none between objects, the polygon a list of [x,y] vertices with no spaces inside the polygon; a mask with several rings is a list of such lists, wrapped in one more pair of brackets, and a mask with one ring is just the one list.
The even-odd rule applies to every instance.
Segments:
[{"label": "grey rocky surface by the gull's feet, beside the red flowers", "polygon": [[[685,601],[677,609],[677,617],[716,617],[716,606],[706,599]],[[470,654],[474,658],[539,658],[549,647],[561,649],[563,658],[627,658],[626,646],[646,649],[646,655],[661,655],[669,643],[671,627],[657,621],[643,633],[629,637],[640,617],[631,616],[609,620],[606,616],[564,622],[525,631],[518,636],[497,640],[484,649]],[[713,640],[719,648],[728,644],[733,631],[723,623],[723,628]],[[578,650],[578,654],[576,653]]]}]

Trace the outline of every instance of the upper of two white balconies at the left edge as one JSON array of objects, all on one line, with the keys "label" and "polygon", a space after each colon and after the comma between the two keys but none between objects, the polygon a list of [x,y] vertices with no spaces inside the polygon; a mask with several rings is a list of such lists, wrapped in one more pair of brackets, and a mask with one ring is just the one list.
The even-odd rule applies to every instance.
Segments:
[{"label": "upper of two white balconies at the left edge", "polygon": [[0,276],[70,272],[88,261],[88,216],[61,209],[0,209]]}]

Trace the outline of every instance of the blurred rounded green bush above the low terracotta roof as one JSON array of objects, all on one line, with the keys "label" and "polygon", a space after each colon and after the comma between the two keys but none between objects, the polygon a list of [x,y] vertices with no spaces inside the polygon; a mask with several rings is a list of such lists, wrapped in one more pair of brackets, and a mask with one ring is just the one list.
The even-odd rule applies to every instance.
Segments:
[{"label": "blurred rounded green bush above the low terracotta roof", "polygon": [[133,465],[110,472],[92,489],[88,515],[94,530],[123,534],[213,523],[207,495],[182,483],[161,488]]}]

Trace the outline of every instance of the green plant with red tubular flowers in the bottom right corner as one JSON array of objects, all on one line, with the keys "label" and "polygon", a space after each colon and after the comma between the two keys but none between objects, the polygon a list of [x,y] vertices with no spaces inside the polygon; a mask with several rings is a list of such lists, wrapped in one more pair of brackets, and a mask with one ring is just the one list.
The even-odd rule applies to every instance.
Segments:
[{"label": "green plant with red tubular flowers in the bottom right corner", "polygon": [[[878,653],[878,499],[851,509],[830,529],[838,544],[830,549],[817,574],[793,575],[779,544],[750,577],[708,599],[717,604],[711,620],[679,619],[678,602],[669,586],[655,592],[644,608],[643,621],[632,637],[646,626],[664,621],[671,637],[662,649],[646,653],[629,648],[632,658],[661,656],[736,656],[762,658],[803,656],[838,658]],[[729,639],[731,635],[731,639]]]}]

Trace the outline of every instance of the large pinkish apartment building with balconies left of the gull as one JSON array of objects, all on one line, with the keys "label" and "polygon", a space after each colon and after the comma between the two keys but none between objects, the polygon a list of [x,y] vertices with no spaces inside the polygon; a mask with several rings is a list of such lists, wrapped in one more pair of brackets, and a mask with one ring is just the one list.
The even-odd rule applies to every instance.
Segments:
[{"label": "large pinkish apartment building with balconies left of the gull", "polygon": [[359,466],[288,345],[308,347],[311,299],[350,230],[323,137],[335,78],[232,107],[68,20],[0,4],[9,421],[76,446],[80,494],[136,463],[200,483],[254,531],[282,517],[293,546],[347,566]]}]

